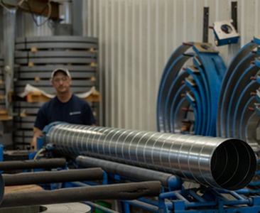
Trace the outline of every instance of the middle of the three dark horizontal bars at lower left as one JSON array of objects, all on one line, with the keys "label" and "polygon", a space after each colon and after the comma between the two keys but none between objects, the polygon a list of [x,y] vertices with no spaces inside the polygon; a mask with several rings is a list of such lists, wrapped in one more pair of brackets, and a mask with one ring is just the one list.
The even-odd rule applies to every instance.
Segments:
[{"label": "middle of the three dark horizontal bars at lower left", "polygon": [[102,180],[101,168],[44,171],[36,173],[3,174],[4,183],[9,185],[29,185],[54,182]]}]

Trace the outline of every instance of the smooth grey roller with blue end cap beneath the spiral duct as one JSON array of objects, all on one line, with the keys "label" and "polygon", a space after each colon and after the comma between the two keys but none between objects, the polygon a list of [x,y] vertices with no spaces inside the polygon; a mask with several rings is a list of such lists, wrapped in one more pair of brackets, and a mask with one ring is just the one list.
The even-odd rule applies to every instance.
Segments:
[{"label": "smooth grey roller with blue end cap beneath the spiral duct", "polygon": [[168,173],[161,173],[154,170],[148,170],[145,168],[138,168],[132,165],[125,165],[122,163],[115,163],[108,160],[101,160],[97,158],[90,158],[87,156],[77,156],[76,162],[79,165],[85,167],[100,167],[107,173],[121,175],[134,180],[159,180],[165,187],[169,187],[170,180],[173,181],[173,185],[170,187],[180,188],[182,182],[178,177]]}]

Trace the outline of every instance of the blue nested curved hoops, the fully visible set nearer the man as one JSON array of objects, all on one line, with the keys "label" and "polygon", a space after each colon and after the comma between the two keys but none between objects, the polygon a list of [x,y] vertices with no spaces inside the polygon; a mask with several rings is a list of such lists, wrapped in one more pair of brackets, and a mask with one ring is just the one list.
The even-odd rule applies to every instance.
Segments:
[{"label": "blue nested curved hoops, the fully visible set nearer the man", "polygon": [[[187,52],[190,48],[191,53]],[[208,43],[183,43],[175,50],[161,77],[158,131],[216,136],[217,102],[225,69],[222,58]]]}]

